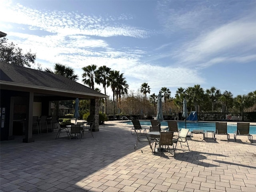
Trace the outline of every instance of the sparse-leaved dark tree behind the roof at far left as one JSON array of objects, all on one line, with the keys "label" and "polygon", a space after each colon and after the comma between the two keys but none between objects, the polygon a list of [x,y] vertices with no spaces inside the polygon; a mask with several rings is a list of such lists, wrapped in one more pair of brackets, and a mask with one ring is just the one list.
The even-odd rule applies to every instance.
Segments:
[{"label": "sparse-leaved dark tree behind the roof at far left", "polygon": [[35,53],[31,53],[31,50],[23,53],[22,48],[16,47],[13,42],[8,43],[7,40],[7,38],[0,38],[0,61],[22,67],[31,67],[31,64],[35,63]]}]

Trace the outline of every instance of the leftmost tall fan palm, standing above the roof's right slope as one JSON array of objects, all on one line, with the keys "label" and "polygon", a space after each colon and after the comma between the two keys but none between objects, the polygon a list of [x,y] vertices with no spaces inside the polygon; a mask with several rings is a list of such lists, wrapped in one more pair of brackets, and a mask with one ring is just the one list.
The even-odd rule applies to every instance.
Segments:
[{"label": "leftmost tall fan palm, standing above the roof's right slope", "polygon": [[96,65],[88,65],[82,68],[82,70],[84,71],[84,73],[82,74],[82,82],[84,82],[84,84],[87,84],[92,89],[94,89],[96,68]]}]

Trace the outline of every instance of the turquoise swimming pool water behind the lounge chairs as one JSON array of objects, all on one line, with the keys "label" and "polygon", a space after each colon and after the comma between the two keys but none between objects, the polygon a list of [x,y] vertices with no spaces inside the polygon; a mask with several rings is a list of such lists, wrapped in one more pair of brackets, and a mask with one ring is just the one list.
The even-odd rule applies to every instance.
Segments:
[{"label": "turquoise swimming pool water behind the lounge chairs", "polygon": [[[132,125],[132,122],[127,121],[125,122],[129,125]],[[140,121],[140,124],[142,126],[151,126],[150,121]],[[187,122],[187,129],[190,129],[190,131],[194,129],[200,129],[204,131],[215,131],[215,122]],[[165,128],[168,127],[168,124],[166,121],[161,122],[161,127]],[[185,122],[178,121],[178,129],[185,128]],[[236,124],[229,124],[228,123],[228,133],[233,134],[234,131],[236,131]],[[250,134],[256,134],[256,125],[250,125]]]}]

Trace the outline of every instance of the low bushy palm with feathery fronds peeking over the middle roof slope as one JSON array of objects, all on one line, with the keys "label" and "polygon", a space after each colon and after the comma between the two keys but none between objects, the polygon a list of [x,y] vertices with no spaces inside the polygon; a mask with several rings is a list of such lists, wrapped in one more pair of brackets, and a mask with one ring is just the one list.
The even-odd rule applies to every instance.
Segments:
[{"label": "low bushy palm with feathery fronds peeking over the middle roof slope", "polygon": [[46,68],[44,71],[54,73],[54,74],[57,74],[57,75],[62,75],[66,78],[69,78],[70,80],[74,80],[74,81],[78,80],[78,75],[74,74],[74,69],[72,69],[71,67],[67,67],[65,65],[62,65],[60,63],[56,63],[54,65],[54,71],[52,71],[49,68]]}]

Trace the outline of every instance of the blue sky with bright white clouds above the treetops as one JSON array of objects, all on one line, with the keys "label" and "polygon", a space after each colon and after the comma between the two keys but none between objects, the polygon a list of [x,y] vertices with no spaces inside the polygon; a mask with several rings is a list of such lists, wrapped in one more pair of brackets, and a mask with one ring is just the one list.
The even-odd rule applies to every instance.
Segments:
[{"label": "blue sky with bright white clouds above the treetops", "polygon": [[[256,90],[256,1],[1,1],[0,30],[36,63],[106,65],[130,90]],[[101,85],[96,85],[103,92]],[[108,89],[107,94],[112,96]]]}]

